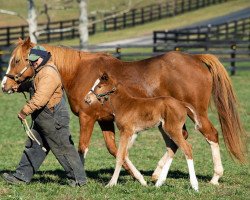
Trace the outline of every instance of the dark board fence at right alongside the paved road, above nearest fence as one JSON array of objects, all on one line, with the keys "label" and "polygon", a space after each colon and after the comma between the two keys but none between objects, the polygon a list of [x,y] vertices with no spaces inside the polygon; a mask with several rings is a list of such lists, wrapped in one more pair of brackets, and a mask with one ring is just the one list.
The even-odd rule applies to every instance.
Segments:
[{"label": "dark board fence at right alongside the paved road, above nearest fence", "polygon": [[[176,42],[209,42],[209,41],[249,41],[250,17],[219,25],[199,26],[172,31],[154,31],[154,44]],[[161,51],[156,48],[154,51]]]}]

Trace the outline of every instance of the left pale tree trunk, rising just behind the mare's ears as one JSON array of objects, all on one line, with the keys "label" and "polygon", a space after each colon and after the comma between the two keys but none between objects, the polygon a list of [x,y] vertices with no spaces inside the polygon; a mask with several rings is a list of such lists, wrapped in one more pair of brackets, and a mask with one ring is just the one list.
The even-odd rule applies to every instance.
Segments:
[{"label": "left pale tree trunk, rising just behind the mare's ears", "polygon": [[28,0],[28,23],[30,40],[37,43],[37,14],[33,0]]}]

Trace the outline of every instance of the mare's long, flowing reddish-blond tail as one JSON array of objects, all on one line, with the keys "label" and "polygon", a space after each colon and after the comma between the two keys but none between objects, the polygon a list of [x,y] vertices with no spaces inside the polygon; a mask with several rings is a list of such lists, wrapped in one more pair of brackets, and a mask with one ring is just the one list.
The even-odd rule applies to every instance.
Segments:
[{"label": "mare's long, flowing reddish-blond tail", "polygon": [[233,91],[228,73],[218,58],[211,54],[196,55],[204,62],[213,78],[213,99],[218,111],[222,134],[226,147],[231,155],[239,162],[246,162],[245,144],[246,133],[240,122],[237,111],[237,98]]}]

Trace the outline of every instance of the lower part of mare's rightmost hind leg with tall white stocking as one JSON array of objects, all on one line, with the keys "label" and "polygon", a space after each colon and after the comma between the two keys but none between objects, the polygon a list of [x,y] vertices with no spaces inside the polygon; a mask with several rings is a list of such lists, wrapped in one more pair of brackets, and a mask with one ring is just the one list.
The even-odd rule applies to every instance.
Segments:
[{"label": "lower part of mare's rightmost hind leg with tall white stocking", "polygon": [[219,184],[219,179],[223,175],[223,166],[221,162],[220,156],[220,147],[219,147],[219,140],[218,140],[218,132],[209,121],[207,115],[200,116],[200,121],[202,127],[199,128],[199,131],[204,135],[208,143],[210,144],[213,163],[214,163],[214,175],[211,179],[210,183],[214,185]]}]

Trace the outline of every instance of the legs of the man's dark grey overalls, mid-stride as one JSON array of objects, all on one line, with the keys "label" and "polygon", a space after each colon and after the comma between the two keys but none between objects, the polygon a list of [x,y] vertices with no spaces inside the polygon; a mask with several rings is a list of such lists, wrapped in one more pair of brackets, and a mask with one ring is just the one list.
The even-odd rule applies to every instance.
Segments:
[{"label": "legs of the man's dark grey overalls, mid-stride", "polygon": [[21,161],[13,175],[25,182],[30,182],[51,150],[66,171],[67,177],[75,180],[76,185],[85,184],[86,174],[83,163],[71,140],[69,112],[65,99],[62,97],[53,112],[44,107],[33,113],[32,119],[34,121],[32,132],[47,152],[45,153],[35,141],[28,139]]}]

